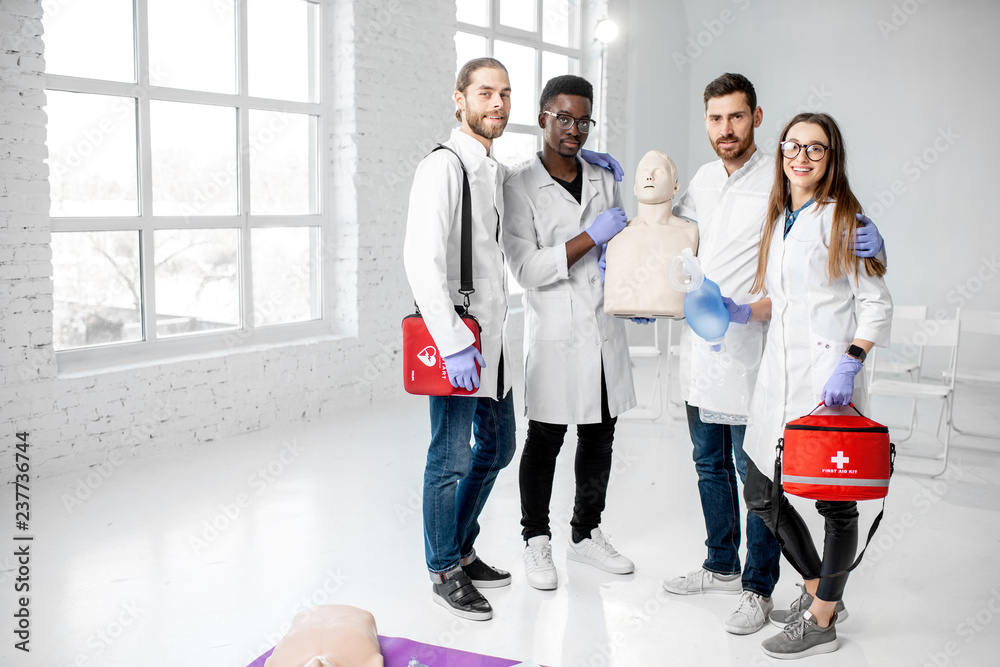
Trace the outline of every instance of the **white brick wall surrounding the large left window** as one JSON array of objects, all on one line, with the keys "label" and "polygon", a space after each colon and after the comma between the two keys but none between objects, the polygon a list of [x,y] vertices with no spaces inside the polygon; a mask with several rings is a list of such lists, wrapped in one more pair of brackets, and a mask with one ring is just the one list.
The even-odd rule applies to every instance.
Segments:
[{"label": "white brick wall surrounding the large left window", "polygon": [[[35,474],[52,475],[208,446],[400,392],[399,321],[412,307],[401,259],[406,204],[414,166],[454,124],[455,7],[328,7],[336,122],[326,162],[336,200],[327,251],[337,260],[336,326],[349,335],[61,377],[41,2],[0,2],[0,451],[28,431]],[[515,318],[517,337],[520,328]],[[9,459],[0,470],[9,472]]]}]

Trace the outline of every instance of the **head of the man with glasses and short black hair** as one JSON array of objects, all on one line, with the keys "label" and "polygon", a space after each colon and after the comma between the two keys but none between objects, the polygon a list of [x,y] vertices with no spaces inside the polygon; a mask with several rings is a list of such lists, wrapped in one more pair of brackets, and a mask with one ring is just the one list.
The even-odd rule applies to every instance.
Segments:
[{"label": "head of the man with glasses and short black hair", "polygon": [[[586,79],[572,74],[550,79],[538,100],[538,126],[545,148],[561,157],[576,157],[590,136],[593,104],[594,87]],[[581,122],[587,132],[580,130]],[[567,123],[572,125],[565,127]]]}]

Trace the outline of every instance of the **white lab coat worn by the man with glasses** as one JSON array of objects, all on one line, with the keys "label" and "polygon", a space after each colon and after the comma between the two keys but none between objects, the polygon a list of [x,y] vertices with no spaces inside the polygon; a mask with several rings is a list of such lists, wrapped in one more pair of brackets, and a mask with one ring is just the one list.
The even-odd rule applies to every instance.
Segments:
[{"label": "white lab coat worn by the man with glasses", "polygon": [[525,288],[525,413],[550,424],[601,421],[602,357],[611,416],[636,404],[625,325],[604,313],[600,248],[567,268],[566,242],[622,205],[610,171],[578,163],[580,203],[537,157],[504,187],[504,251]]}]

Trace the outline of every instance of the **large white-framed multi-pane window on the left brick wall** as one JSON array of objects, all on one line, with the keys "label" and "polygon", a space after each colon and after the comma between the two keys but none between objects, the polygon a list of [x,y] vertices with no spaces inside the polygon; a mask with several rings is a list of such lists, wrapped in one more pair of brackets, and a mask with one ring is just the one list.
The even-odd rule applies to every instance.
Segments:
[{"label": "large white-framed multi-pane window on the left brick wall", "polygon": [[329,331],[318,0],[43,10],[61,363]]}]

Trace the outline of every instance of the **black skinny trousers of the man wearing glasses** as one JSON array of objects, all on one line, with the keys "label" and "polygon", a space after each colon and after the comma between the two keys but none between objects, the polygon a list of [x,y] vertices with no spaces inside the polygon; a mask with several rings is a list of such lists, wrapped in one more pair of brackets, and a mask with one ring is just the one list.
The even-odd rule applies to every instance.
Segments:
[{"label": "black skinny trousers of the man wearing glasses", "polygon": [[[608,410],[608,388],[601,367],[601,422],[578,424],[576,446],[576,500],[573,505],[573,541],[590,537],[601,523],[601,512],[611,475],[611,447],[617,417]],[[552,537],[549,501],[556,457],[566,435],[566,424],[529,420],[528,435],[521,452],[518,479],[521,486],[521,535],[525,541],[538,535]]]}]

